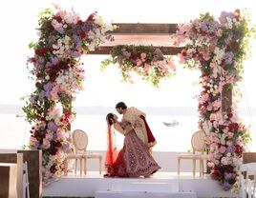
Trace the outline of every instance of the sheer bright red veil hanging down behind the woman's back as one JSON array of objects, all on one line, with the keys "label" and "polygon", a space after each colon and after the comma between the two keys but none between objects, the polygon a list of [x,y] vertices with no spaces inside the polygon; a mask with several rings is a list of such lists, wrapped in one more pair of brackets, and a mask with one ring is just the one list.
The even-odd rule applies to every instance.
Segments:
[{"label": "sheer bright red veil hanging down behind the woman's back", "polygon": [[106,175],[111,175],[113,173],[113,167],[117,161],[117,143],[116,143],[116,134],[114,133],[112,126],[108,125],[107,131],[107,152],[105,160],[105,171]]}]

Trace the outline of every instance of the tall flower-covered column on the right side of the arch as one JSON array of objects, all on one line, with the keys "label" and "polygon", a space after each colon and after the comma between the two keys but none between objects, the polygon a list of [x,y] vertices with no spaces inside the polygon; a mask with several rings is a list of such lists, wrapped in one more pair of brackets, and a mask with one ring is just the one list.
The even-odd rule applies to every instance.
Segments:
[{"label": "tall flower-covered column on the right side of the arch", "polygon": [[188,24],[181,24],[175,43],[184,44],[180,61],[189,69],[201,69],[203,91],[199,95],[200,124],[207,135],[208,167],[213,179],[224,190],[237,182],[242,153],[250,136],[239,119],[235,105],[222,109],[224,86],[237,95],[242,80],[249,29],[240,10],[223,11],[219,20],[208,13]]}]

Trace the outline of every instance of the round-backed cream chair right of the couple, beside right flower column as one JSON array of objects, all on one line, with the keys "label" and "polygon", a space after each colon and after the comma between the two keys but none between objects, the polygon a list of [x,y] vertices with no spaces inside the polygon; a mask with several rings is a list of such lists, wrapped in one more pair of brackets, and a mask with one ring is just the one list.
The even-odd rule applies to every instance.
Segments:
[{"label": "round-backed cream chair right of the couple, beside right flower column", "polygon": [[193,175],[196,174],[196,161],[200,161],[200,176],[203,176],[203,160],[207,159],[207,155],[203,154],[205,147],[204,141],[205,133],[203,130],[195,132],[191,137],[191,146],[193,148],[193,153],[184,153],[177,156],[178,160],[178,175],[180,175],[181,159],[192,160],[192,172]]}]

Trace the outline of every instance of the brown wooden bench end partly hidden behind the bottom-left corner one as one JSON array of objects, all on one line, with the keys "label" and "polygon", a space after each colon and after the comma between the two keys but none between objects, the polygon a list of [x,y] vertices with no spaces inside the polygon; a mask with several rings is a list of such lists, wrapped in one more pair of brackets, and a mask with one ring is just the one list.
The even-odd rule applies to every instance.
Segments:
[{"label": "brown wooden bench end partly hidden behind the bottom-left corner one", "polygon": [[17,188],[17,197],[22,198],[23,196],[23,154],[22,153],[1,153],[0,163],[17,164],[17,175],[16,175],[17,184],[15,185],[15,187]]}]

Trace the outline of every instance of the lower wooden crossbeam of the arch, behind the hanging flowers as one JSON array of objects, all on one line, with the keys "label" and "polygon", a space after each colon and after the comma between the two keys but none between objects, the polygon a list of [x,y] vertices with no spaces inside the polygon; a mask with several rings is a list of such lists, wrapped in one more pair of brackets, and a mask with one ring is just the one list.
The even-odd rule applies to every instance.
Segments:
[{"label": "lower wooden crossbeam of the arch, behind the hanging flowers", "polygon": [[[111,49],[113,47],[99,47],[98,49],[96,49],[95,51],[89,51],[88,54],[110,54]],[[154,47],[154,48],[158,48],[158,47]],[[178,53],[181,52],[181,50],[183,48],[176,48],[176,47],[161,47],[160,48],[162,53],[164,55],[177,55]]]}]

